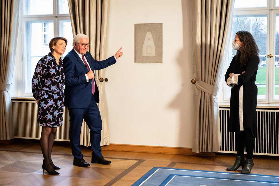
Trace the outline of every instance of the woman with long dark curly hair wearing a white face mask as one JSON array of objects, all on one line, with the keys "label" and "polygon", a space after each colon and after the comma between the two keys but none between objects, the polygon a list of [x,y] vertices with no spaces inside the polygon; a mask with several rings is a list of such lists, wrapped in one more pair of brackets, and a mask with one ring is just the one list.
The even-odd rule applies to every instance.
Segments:
[{"label": "woman with long dark curly hair wearing a white face mask", "polygon": [[[229,131],[235,132],[236,162],[227,171],[236,171],[242,166],[241,173],[251,172],[254,143],[257,134],[257,95],[255,84],[260,62],[259,48],[247,31],[236,33],[232,43],[236,55],[225,74],[227,85],[232,87],[229,110]],[[246,159],[244,149],[246,147]]]}]

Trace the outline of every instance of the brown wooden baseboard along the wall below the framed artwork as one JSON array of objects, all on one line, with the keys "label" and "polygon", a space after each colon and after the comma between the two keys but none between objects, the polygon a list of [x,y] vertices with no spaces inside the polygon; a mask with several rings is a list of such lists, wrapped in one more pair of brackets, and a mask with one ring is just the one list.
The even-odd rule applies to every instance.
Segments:
[{"label": "brown wooden baseboard along the wall below the framed artwork", "polygon": [[215,155],[214,152],[194,153],[194,152],[192,152],[192,148],[126,145],[126,144],[110,144],[108,146],[102,146],[102,150],[116,150],[116,151],[127,151],[127,152],[148,152],[148,153],[159,153],[159,154],[181,154],[181,155],[193,155],[193,156],[214,156]]}]

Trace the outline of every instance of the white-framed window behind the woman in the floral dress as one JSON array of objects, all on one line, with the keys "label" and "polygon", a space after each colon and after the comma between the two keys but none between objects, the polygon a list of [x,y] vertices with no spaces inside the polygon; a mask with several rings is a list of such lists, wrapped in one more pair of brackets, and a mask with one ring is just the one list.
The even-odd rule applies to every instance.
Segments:
[{"label": "white-framed window behind the woman in the floral dress", "polygon": [[64,56],[72,50],[72,27],[67,0],[23,0],[17,51],[18,67],[22,74],[17,74],[23,87],[19,96],[32,95],[31,79],[39,59],[50,52],[49,42],[53,37],[68,40]]}]

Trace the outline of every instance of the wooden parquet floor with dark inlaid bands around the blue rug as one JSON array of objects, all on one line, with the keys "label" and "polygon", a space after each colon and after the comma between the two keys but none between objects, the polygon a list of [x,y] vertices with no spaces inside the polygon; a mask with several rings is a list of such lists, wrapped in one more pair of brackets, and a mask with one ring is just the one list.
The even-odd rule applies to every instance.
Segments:
[{"label": "wooden parquet floor with dark inlaid bands around the blue rug", "polygon": [[[91,163],[91,150],[83,147],[82,153],[90,167],[73,165],[70,144],[54,142],[52,160],[61,168],[60,175],[42,174],[42,160],[39,141],[17,140],[12,144],[0,144],[0,186],[64,186],[132,185],[153,167],[194,169],[226,172],[234,164],[234,155],[217,154],[208,156],[187,156],[103,150],[102,154],[110,165]],[[234,171],[240,173],[241,170]],[[252,174],[279,176],[279,157],[255,156]]]}]

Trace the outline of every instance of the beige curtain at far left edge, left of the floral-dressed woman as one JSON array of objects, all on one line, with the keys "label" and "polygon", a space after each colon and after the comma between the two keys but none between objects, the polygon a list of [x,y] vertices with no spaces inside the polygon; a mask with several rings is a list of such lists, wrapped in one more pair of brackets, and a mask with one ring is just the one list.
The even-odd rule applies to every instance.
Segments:
[{"label": "beige curtain at far left edge, left of the floral-dressed woman", "polygon": [[0,140],[10,140],[14,134],[10,89],[15,66],[20,1],[0,2]]}]

